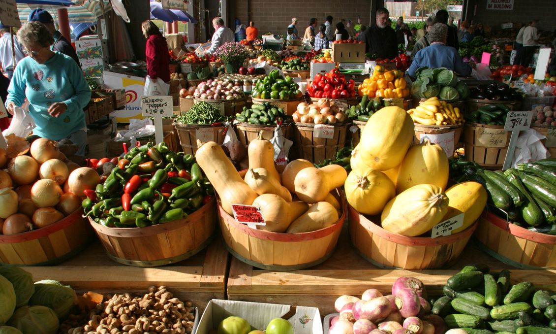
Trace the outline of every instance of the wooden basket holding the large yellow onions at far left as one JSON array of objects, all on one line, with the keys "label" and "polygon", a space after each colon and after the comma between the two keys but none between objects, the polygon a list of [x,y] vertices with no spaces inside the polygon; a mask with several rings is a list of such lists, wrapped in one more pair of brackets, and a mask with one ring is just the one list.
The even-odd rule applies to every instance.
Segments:
[{"label": "wooden basket holding the large yellow onions at far left", "polygon": [[78,209],[58,222],[29,232],[0,235],[0,262],[16,266],[52,266],[85,249],[93,230]]}]

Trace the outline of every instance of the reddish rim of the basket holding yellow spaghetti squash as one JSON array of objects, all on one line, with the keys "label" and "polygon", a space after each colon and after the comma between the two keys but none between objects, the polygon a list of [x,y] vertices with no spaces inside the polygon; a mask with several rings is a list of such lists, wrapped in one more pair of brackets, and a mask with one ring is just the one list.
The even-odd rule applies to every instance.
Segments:
[{"label": "reddish rim of the basket holding yellow spaghetti squash", "polygon": [[447,235],[446,237],[438,237],[438,238],[430,238],[430,237],[406,237],[405,235],[395,234],[388,232],[384,228],[381,228],[379,225],[371,222],[365,215],[360,214],[357,212],[351,205],[347,205],[347,209],[349,210],[349,214],[355,216],[359,216],[359,223],[363,225],[363,227],[373,234],[379,235],[379,237],[389,240],[391,242],[395,242],[398,244],[403,245],[418,245],[418,246],[430,246],[430,245],[444,245],[454,243],[461,238],[465,238],[468,235],[473,234],[475,229],[477,228],[479,220],[476,220],[473,224],[471,224],[468,228],[464,229],[463,231]]}]

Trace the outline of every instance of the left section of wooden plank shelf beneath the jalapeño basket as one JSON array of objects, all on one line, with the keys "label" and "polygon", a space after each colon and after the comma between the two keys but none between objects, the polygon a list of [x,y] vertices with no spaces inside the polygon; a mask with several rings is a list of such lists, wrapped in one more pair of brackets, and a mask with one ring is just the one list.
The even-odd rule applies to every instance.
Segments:
[{"label": "left section of wooden plank shelf beneath the jalape\u00f1o basket", "polygon": [[224,299],[230,255],[215,240],[195,256],[170,266],[139,268],[112,261],[96,241],[76,257],[54,267],[25,267],[34,281],[56,279],[78,294],[141,293],[150,285],[164,285],[178,298],[190,300],[199,312],[211,298]]}]

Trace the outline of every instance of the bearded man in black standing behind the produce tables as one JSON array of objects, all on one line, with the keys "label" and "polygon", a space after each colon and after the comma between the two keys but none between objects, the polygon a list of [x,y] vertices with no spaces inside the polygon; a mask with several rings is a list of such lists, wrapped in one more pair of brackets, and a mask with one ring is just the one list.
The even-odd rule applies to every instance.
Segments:
[{"label": "bearded man in black standing behind the produce tables", "polygon": [[386,8],[376,11],[376,24],[365,31],[365,52],[379,58],[398,56],[396,32],[388,25],[390,13]]}]

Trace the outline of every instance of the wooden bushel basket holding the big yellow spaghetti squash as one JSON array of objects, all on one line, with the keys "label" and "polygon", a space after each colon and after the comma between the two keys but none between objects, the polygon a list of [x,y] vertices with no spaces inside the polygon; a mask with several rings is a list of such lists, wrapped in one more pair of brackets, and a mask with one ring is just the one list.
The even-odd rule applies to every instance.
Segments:
[{"label": "wooden bushel basket holding the big yellow spaghetti squash", "polygon": [[[454,264],[477,222],[447,237],[406,237],[388,232],[348,205],[349,233],[355,249],[375,266],[402,269],[440,269]],[[379,217],[377,219],[380,219]]]}]

